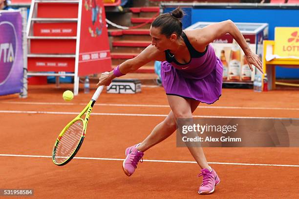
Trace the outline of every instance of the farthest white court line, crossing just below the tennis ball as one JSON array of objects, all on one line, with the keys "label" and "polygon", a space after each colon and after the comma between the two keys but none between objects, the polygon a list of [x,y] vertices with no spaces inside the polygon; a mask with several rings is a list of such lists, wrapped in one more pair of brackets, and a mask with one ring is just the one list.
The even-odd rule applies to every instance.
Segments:
[{"label": "farthest white court line, crossing just below the tennis ball", "polygon": [[[59,103],[59,102],[19,102],[19,101],[3,101],[0,103],[8,104],[32,104],[32,105],[86,105],[86,103]],[[125,106],[125,107],[166,107],[169,105],[155,105],[155,104],[112,104],[112,103],[96,103],[95,106]],[[214,108],[214,109],[254,109],[254,110],[291,110],[299,111],[299,108],[278,108],[278,107],[242,107],[242,106],[201,106],[197,108]]]}]

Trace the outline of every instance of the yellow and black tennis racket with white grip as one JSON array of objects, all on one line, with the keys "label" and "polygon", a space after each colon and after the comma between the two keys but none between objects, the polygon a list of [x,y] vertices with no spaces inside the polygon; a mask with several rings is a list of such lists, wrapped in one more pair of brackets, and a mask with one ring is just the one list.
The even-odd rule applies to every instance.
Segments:
[{"label": "yellow and black tennis racket with white grip", "polygon": [[[104,86],[99,86],[83,111],[71,120],[61,131],[54,144],[52,159],[54,164],[63,166],[77,154],[85,138],[87,122],[91,109],[98,100]],[[85,119],[81,117],[86,113]]]}]

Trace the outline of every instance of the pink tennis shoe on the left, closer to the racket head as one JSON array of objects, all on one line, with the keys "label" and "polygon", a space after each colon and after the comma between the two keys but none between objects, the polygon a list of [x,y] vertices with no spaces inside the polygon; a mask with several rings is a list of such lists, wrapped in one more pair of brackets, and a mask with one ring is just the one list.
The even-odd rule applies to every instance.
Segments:
[{"label": "pink tennis shoe on the left, closer to the racket head", "polygon": [[127,176],[131,176],[137,168],[138,162],[142,162],[143,152],[136,149],[141,143],[130,146],[126,149],[126,159],[123,162],[123,170]]}]

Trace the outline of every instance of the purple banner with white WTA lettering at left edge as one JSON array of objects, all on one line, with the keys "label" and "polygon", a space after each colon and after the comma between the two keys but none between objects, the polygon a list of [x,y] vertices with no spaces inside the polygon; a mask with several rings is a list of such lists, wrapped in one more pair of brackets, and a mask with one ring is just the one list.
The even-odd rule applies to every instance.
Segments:
[{"label": "purple banner with white WTA lettering at left edge", "polygon": [[0,12],[0,95],[20,93],[22,77],[21,14]]}]

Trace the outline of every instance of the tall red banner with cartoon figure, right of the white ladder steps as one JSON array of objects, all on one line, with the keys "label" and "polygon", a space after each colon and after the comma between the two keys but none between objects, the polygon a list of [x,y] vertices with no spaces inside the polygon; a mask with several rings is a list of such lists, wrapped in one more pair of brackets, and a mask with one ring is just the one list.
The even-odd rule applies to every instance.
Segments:
[{"label": "tall red banner with cartoon figure, right of the white ladder steps", "polygon": [[79,76],[111,70],[111,57],[102,0],[83,0]]}]

